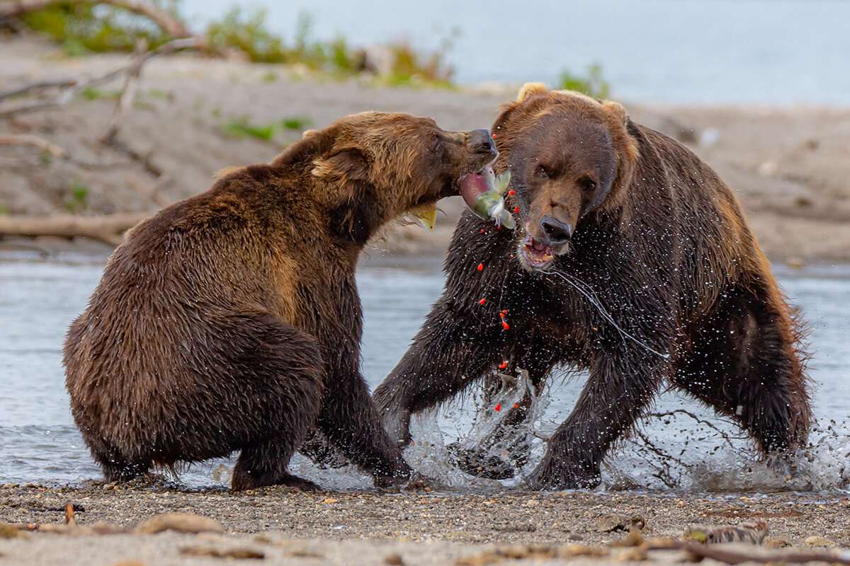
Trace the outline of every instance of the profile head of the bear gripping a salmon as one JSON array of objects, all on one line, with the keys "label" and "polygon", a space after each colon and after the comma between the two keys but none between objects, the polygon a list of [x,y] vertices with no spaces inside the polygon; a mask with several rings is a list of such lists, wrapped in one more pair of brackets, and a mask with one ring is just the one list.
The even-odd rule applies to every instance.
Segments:
[{"label": "profile head of the bear gripping a salmon", "polygon": [[438,199],[459,193],[463,177],[496,159],[487,130],[450,132],[402,113],[348,115],[306,132],[302,143],[314,154],[315,198],[358,242],[405,212],[433,210]]}]

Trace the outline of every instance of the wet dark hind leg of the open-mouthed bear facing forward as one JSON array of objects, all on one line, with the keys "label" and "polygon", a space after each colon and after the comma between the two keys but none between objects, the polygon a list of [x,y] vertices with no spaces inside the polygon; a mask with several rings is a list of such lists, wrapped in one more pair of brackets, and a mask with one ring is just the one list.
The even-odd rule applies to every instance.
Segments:
[{"label": "wet dark hind leg of the open-mouthed bear facing forward", "polygon": [[706,321],[674,382],[732,416],[764,453],[789,451],[808,438],[808,377],[798,322],[768,287],[731,286]]}]

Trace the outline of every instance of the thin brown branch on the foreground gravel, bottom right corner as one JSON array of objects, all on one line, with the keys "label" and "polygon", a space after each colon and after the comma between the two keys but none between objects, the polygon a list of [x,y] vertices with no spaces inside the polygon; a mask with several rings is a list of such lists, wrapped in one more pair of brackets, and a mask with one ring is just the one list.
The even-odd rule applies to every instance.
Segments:
[{"label": "thin brown branch on the foreground gravel, bottom right corner", "polygon": [[727,564],[742,562],[756,563],[807,563],[825,562],[850,564],[850,551],[842,550],[775,550],[767,551],[759,546],[744,550],[742,546],[703,545],[698,542],[677,539],[655,539],[646,543],[646,550],[683,550],[699,558],[711,558]]}]

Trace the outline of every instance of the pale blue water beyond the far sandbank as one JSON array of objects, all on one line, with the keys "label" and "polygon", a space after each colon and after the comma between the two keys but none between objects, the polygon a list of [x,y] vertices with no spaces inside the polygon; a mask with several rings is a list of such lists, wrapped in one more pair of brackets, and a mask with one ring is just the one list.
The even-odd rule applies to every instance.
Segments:
[{"label": "pale blue water beyond the far sandbank", "polygon": [[[183,0],[201,29],[234,0]],[[602,65],[614,98],[689,104],[850,103],[850,2],[844,0],[249,0],[292,42],[298,14],[314,36],[352,46],[439,48],[456,81],[554,84]]]}]

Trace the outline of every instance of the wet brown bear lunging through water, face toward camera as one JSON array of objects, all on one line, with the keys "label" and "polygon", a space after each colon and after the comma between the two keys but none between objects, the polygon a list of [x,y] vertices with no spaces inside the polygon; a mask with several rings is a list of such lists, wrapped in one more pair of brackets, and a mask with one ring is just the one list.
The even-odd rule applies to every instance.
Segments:
[{"label": "wet brown bear lunging through water, face toward camera", "polygon": [[563,364],[590,377],[527,479],[536,489],[597,485],[665,384],[734,417],[764,453],[804,444],[801,322],[717,174],[620,104],[536,83],[492,132],[518,227],[462,216],[445,291],[374,393],[391,436],[405,443],[411,413],[497,367],[540,387]]}]

